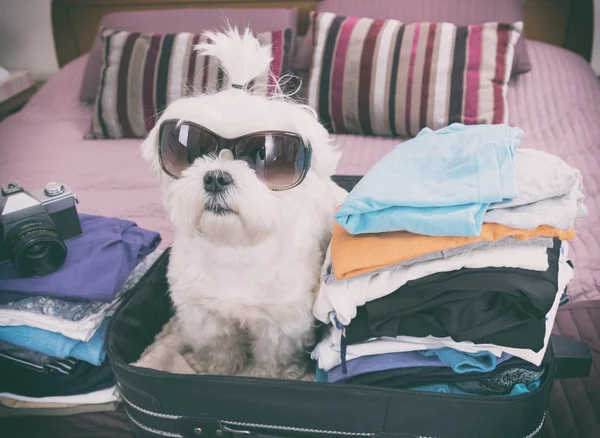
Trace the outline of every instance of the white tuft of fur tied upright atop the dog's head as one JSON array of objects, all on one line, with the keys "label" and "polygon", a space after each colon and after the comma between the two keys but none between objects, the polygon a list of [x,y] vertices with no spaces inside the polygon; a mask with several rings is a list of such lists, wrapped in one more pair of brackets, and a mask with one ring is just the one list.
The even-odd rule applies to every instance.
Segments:
[{"label": "white tuft of fur tied upright atop the dog's head", "polygon": [[248,28],[243,33],[235,27],[225,32],[205,32],[203,38],[205,42],[194,49],[216,58],[232,84],[244,86],[271,67],[271,46],[261,46]]}]

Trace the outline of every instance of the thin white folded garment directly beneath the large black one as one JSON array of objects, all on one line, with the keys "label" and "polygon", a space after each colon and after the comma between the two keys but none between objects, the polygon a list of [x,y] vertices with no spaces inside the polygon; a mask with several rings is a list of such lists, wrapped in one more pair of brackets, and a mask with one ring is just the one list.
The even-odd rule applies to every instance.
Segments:
[{"label": "thin white folded garment directly beneath the large black one", "polygon": [[[558,291],[556,294],[554,304],[546,315],[546,335],[544,338],[544,347],[537,353],[533,350],[524,348],[510,348],[494,344],[474,344],[472,342],[456,342],[450,337],[436,338],[433,336],[427,336],[425,338],[415,338],[412,336],[397,336],[395,338],[371,339],[366,342],[347,345],[346,360],[352,360],[358,357],[372,356],[376,354],[400,353],[405,351],[421,351],[434,348],[450,347],[466,353],[489,351],[497,357],[500,357],[502,353],[508,353],[515,357],[520,357],[521,359],[531,362],[537,366],[542,363],[542,359],[546,353],[546,348],[548,348],[548,341],[550,339],[550,335],[552,334],[552,327],[554,327],[554,320],[556,318],[556,313],[558,312],[558,305],[560,303],[561,295],[562,290]],[[330,333],[315,347],[311,355],[313,360],[318,362],[319,368],[329,371],[333,367],[336,367],[342,363],[340,355],[341,339],[342,330],[336,328],[335,324],[333,324]]]}]

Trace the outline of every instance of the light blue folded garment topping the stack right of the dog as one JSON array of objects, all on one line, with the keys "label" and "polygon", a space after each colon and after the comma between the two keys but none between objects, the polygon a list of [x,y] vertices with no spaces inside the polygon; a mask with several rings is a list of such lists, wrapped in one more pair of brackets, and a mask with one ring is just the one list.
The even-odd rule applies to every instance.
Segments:
[{"label": "light blue folded garment topping the stack right of the dog", "polygon": [[522,135],[507,125],[425,128],[373,166],[335,220],[350,234],[478,236],[489,205],[518,196]]}]

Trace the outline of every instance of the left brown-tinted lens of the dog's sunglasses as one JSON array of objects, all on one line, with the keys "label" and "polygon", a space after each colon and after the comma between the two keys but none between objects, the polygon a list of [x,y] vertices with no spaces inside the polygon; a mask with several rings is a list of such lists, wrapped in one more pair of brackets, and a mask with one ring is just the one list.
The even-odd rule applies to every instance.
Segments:
[{"label": "left brown-tinted lens of the dog's sunglasses", "polygon": [[197,158],[216,154],[218,140],[208,131],[186,123],[165,122],[160,134],[160,161],[163,170],[179,178]]}]

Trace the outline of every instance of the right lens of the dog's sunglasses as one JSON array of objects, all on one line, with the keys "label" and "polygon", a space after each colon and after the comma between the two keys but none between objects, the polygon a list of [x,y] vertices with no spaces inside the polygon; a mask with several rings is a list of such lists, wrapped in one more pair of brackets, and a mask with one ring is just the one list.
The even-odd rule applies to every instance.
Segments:
[{"label": "right lens of the dog's sunglasses", "polygon": [[285,134],[247,137],[237,143],[236,155],[270,189],[285,189],[298,183],[307,161],[302,140]]}]

